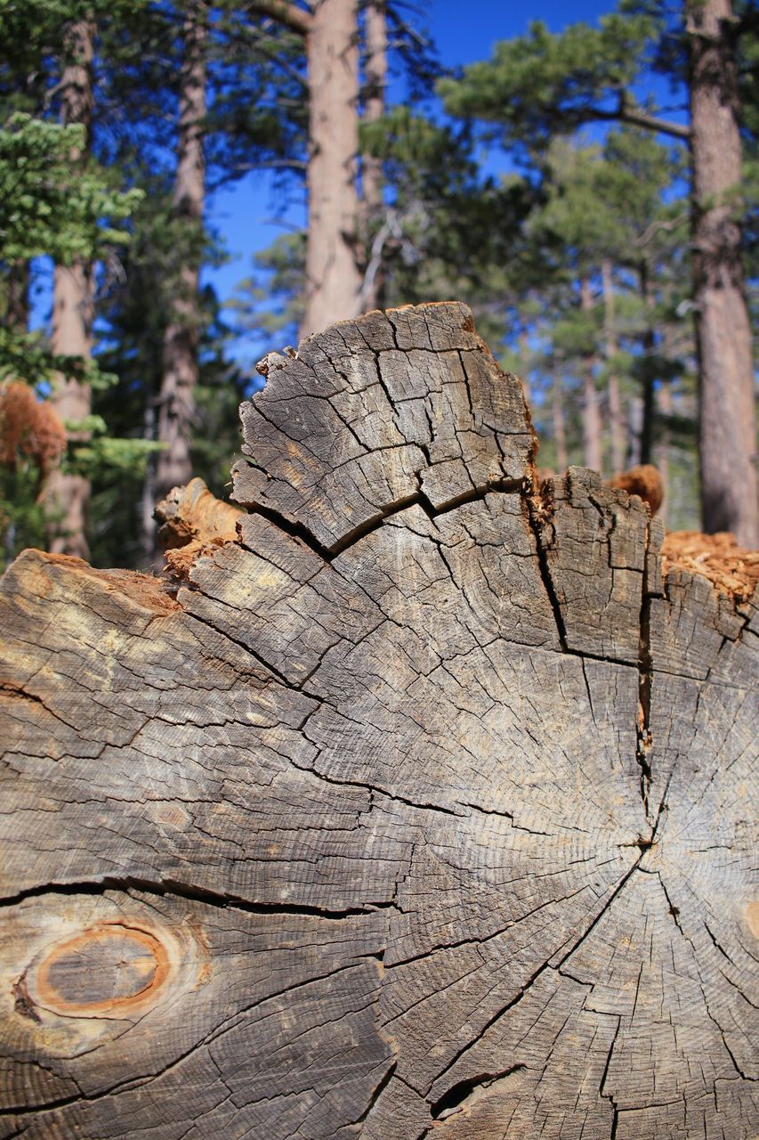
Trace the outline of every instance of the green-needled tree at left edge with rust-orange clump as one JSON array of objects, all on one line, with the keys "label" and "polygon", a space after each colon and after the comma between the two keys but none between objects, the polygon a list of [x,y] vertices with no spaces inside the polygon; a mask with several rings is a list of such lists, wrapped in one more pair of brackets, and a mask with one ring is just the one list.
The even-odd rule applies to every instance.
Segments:
[{"label": "green-needled tree at left edge with rust-orange clump", "polygon": [[[64,455],[56,441],[66,441],[62,412],[70,415],[71,408],[56,404],[62,391],[87,393],[105,376],[76,344],[63,336],[48,344],[27,327],[31,260],[48,255],[59,275],[70,267],[75,275],[76,267],[123,243],[126,235],[119,223],[140,197],[139,192],[114,192],[92,162],[72,164],[72,153],[81,154],[84,141],[81,123],[59,124],[23,112],[0,130],[0,282],[7,312],[0,329],[0,516],[7,559],[24,545],[43,545],[51,526],[60,526],[66,500],[56,491],[66,491],[70,481],[75,489],[88,484],[80,433],[91,417],[70,423]],[[51,388],[54,398],[47,399]]]}]

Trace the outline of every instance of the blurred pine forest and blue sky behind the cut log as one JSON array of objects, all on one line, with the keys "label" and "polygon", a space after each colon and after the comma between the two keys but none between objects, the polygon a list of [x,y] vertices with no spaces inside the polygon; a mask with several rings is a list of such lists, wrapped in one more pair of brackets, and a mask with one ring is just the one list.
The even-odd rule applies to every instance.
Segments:
[{"label": "blurred pine forest and blue sky behind the cut log", "polygon": [[759,544],[757,5],[503,9],[0,0],[6,563],[154,565],[259,357],[449,299],[541,466],[654,462],[670,529]]}]

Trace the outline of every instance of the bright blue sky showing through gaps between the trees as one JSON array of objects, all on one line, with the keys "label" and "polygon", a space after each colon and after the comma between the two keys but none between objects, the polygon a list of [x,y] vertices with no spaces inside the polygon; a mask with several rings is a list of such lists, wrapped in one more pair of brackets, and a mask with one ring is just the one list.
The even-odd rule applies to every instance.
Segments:
[{"label": "bright blue sky showing through gaps between the trees", "polygon": [[[578,21],[596,24],[598,17],[613,7],[614,0],[576,0],[572,3],[532,0],[529,9],[505,0],[472,0],[468,5],[462,0],[429,0],[426,5],[419,3],[416,11],[407,10],[407,18],[416,27],[426,24],[443,66],[456,67],[489,58],[498,40],[522,34],[530,21],[542,19],[553,31],[561,31]],[[393,93],[391,89],[391,98]],[[222,300],[230,298],[237,283],[250,275],[251,256],[283,231],[272,221],[275,213],[276,203],[266,174],[253,173],[213,196],[209,220],[219,230],[229,260],[209,270],[205,279],[213,283]],[[300,225],[304,211],[293,206],[287,218]],[[240,365],[250,368],[271,347],[268,341],[248,336],[230,345],[230,351]]]}]

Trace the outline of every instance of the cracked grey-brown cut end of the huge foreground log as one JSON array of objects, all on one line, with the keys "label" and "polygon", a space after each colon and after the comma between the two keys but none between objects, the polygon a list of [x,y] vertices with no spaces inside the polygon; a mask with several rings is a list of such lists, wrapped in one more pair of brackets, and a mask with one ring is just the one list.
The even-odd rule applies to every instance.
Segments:
[{"label": "cracked grey-brown cut end of the huge foreground log", "polygon": [[756,1135],[756,605],[462,306],[264,369],[176,598],[6,576],[0,1137]]}]

